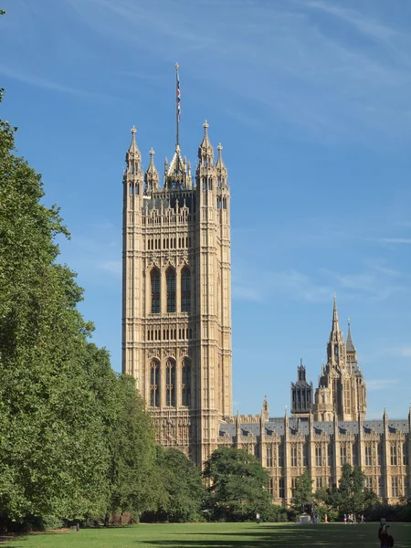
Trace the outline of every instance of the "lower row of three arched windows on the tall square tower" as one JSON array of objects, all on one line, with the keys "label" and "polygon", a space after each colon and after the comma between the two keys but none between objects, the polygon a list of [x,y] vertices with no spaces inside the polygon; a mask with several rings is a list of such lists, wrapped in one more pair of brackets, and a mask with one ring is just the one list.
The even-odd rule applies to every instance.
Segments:
[{"label": "lower row of three arched windows on the tall square tower", "polygon": [[[150,364],[150,406],[160,407],[161,405],[161,367],[158,360]],[[165,363],[165,405],[176,406],[176,364],[174,359],[169,358]],[[188,359],[183,360],[181,368],[181,403],[182,406],[191,406],[191,363]]]}]

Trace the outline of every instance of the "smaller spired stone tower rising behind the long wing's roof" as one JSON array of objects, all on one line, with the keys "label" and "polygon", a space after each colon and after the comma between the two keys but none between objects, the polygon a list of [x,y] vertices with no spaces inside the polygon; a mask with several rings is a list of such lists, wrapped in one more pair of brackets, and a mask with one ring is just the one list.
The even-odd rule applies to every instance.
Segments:
[{"label": "smaller spired stone tower rising behind the long wing's roof", "polygon": [[321,366],[319,386],[315,391],[314,420],[356,420],[365,418],[366,391],[364,376],[358,367],[350,323],[344,342],[334,297],[332,331],[327,344],[327,364]]}]

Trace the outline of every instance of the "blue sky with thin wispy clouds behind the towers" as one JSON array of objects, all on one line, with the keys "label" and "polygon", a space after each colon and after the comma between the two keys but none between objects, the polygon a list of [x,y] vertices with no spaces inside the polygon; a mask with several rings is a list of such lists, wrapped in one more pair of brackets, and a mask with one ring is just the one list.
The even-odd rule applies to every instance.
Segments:
[{"label": "blue sky with thin wispy clouds behind the towers", "polygon": [[337,293],[368,416],[411,402],[411,3],[398,0],[3,0],[1,108],[71,231],[94,340],[121,367],[121,168],[202,124],[232,194],[234,407],[290,407],[317,384]]}]

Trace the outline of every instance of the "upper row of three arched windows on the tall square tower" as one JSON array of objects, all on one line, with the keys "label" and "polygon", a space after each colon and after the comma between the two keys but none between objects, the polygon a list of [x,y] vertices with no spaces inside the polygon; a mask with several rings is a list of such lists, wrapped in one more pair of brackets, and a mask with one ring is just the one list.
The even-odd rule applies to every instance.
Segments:
[{"label": "upper row of three arched windows on the tall square tower", "polygon": [[[150,275],[151,281],[151,311],[152,314],[157,314],[161,311],[162,291],[161,291],[161,274],[159,269],[153,269]],[[184,267],[180,274],[181,293],[180,293],[180,309],[182,312],[191,311],[191,273],[190,269]],[[176,272],[175,269],[169,268],[165,271],[165,300],[166,311],[176,311]]]}]

